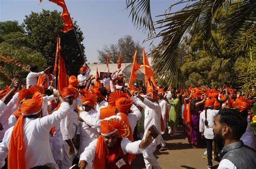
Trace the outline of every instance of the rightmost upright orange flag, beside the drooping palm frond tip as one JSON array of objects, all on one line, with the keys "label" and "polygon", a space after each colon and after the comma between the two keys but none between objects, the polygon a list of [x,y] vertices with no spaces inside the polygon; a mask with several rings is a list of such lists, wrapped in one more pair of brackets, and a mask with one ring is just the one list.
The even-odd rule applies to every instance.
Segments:
[{"label": "rightmost upright orange flag, beside the drooping palm frond tip", "polygon": [[[143,49],[143,64],[146,65],[144,67],[144,74],[145,74],[145,82],[146,86],[150,87],[152,86],[150,81],[153,83],[154,87],[157,87],[156,82],[154,81],[154,72],[152,71],[149,61],[147,60],[147,56],[145,53],[145,50]],[[150,80],[150,81],[149,81]]]}]

